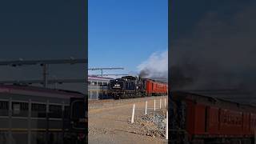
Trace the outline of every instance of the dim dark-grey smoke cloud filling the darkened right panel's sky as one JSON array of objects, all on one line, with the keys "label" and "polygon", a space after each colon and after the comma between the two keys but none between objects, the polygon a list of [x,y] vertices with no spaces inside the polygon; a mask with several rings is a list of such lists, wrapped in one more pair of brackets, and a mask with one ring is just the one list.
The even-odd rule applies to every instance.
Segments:
[{"label": "dim dark-grey smoke cloud filling the darkened right panel's sky", "polygon": [[171,85],[177,89],[255,92],[255,14],[255,3],[228,18],[218,11],[208,12],[193,33],[172,43]]}]

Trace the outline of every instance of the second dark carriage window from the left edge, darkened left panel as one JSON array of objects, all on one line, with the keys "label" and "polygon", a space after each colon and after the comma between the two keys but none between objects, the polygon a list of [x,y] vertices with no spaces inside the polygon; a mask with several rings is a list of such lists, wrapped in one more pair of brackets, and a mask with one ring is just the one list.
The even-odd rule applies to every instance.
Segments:
[{"label": "second dark carriage window from the left edge, darkened left panel", "polygon": [[27,117],[28,110],[28,102],[12,102],[12,111],[14,117]]}]

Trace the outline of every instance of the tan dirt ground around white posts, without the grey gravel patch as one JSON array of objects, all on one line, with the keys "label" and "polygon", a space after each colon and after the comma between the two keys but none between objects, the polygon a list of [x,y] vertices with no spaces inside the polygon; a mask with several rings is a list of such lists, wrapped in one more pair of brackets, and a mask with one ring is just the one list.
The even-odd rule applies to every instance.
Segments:
[{"label": "tan dirt ground around white posts, without the grey gravel patch", "polygon": [[[165,97],[166,98],[166,97]],[[156,112],[159,110],[160,97],[156,99]],[[123,105],[111,105],[109,107],[98,107],[89,110],[89,137],[90,144],[151,144],[167,143],[164,134],[148,134],[141,124],[145,113],[145,103],[148,101],[148,114],[154,114],[154,98],[145,98],[138,102],[125,103]],[[144,102],[143,102],[144,101]],[[135,121],[130,123],[132,107],[135,103]],[[167,98],[166,98],[167,104]],[[164,108],[164,98],[162,97],[162,108]],[[139,123],[140,122],[140,123]],[[143,121],[144,122],[144,121]],[[149,125],[147,125],[149,126]]]}]

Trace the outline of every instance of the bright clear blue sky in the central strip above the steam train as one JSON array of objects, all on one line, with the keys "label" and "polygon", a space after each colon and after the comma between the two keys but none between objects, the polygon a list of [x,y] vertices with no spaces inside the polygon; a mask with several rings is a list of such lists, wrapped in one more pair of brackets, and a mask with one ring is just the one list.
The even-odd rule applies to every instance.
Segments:
[{"label": "bright clear blue sky in the central strip above the steam train", "polygon": [[167,50],[167,0],[89,0],[89,67],[137,66]]}]

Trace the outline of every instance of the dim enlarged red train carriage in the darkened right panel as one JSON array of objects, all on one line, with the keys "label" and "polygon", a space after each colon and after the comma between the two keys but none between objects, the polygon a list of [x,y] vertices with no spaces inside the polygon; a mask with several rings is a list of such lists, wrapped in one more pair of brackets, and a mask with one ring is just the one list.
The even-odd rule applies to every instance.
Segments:
[{"label": "dim enlarged red train carriage in the darkened right panel", "polygon": [[172,92],[170,141],[175,143],[251,143],[256,106],[199,94]]}]

